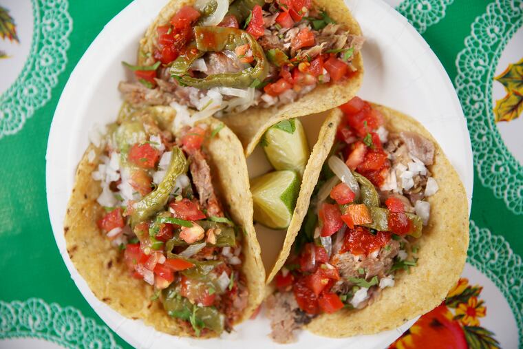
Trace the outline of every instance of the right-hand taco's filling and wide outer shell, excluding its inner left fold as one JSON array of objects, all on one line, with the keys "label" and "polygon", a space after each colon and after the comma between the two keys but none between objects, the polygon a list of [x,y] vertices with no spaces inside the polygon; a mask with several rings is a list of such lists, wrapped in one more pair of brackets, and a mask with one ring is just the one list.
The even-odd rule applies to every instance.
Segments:
[{"label": "right-hand taco's filling and wide outer shell, excluding its inner left fold", "polygon": [[465,189],[416,120],[353,98],[323,163],[277,291],[272,338],[306,328],[326,337],[391,330],[438,306],[469,242]]}]

